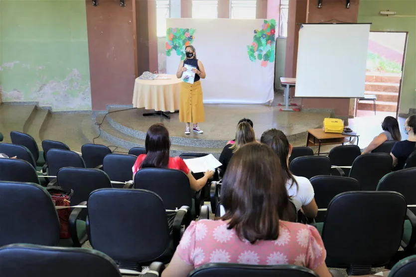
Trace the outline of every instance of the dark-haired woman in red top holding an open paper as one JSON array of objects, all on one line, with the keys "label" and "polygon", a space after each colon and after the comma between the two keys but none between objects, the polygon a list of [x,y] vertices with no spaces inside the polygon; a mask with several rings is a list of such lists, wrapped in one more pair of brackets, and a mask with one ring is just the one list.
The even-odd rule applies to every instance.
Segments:
[{"label": "dark-haired woman in red top holding an open paper", "polygon": [[214,176],[213,171],[207,171],[204,177],[195,180],[185,162],[179,157],[169,157],[170,139],[169,132],[162,123],[156,123],[149,127],[145,140],[146,154],[137,157],[133,166],[133,180],[136,172],[142,168],[168,168],[183,171],[189,179],[191,188],[200,190]]}]

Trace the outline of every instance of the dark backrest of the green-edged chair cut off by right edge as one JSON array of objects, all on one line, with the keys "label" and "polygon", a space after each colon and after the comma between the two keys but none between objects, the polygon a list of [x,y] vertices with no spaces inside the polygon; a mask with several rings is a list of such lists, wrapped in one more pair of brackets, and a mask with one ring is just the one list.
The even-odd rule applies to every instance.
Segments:
[{"label": "dark backrest of the green-edged chair cut off by right edge", "polygon": [[[377,190],[397,191],[406,198],[408,205],[416,205],[416,168],[402,169],[385,175]],[[409,207],[416,212],[416,207]]]}]

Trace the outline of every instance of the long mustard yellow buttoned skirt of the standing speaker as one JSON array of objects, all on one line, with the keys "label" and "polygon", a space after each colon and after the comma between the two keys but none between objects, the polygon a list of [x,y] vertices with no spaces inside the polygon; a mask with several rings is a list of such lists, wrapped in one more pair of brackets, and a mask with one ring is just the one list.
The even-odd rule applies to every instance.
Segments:
[{"label": "long mustard yellow buttoned skirt of the standing speaker", "polygon": [[180,88],[179,121],[192,123],[205,121],[200,81],[193,84],[182,82]]}]

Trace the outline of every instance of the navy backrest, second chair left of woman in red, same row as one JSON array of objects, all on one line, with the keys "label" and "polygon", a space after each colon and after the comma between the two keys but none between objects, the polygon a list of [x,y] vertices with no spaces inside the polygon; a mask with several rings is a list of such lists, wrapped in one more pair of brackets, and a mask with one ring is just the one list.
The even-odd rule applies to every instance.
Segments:
[{"label": "navy backrest, second chair left of woman in red, same row", "polygon": [[64,167],[85,168],[82,157],[70,150],[49,149],[46,154],[46,162],[48,163],[48,174],[50,176],[56,176],[58,170]]}]

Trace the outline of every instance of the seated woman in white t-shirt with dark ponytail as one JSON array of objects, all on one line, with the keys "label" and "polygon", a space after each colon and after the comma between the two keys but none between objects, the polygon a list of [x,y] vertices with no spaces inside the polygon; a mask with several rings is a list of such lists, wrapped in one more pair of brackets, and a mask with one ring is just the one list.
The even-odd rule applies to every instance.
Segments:
[{"label": "seated woman in white t-shirt with dark ponytail", "polygon": [[269,145],[277,154],[283,171],[289,177],[286,182],[287,194],[294,202],[296,209],[302,209],[307,217],[315,218],[318,206],[315,202],[315,192],[312,184],[304,177],[294,176],[289,171],[289,157],[292,153],[292,145],[286,135],[275,128],[269,129],[262,134],[260,141]]}]

